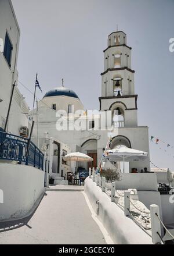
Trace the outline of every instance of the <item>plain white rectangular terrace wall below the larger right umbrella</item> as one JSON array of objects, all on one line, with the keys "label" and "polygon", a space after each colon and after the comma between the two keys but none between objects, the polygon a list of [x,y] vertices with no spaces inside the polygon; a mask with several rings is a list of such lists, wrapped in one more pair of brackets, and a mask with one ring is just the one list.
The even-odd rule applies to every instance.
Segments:
[{"label": "plain white rectangular terrace wall below the larger right umbrella", "polygon": [[116,189],[158,191],[156,173],[121,173],[121,181],[115,181]]}]

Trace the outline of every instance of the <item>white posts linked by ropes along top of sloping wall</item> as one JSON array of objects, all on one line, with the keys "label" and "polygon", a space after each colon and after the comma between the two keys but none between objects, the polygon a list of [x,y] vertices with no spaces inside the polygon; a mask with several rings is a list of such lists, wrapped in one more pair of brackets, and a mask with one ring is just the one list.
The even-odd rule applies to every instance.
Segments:
[{"label": "white posts linked by ropes along top of sloping wall", "polygon": [[[89,168],[89,178],[92,179],[93,182],[95,182],[96,185],[99,186],[102,189],[102,191],[108,195],[108,197],[110,197],[111,202],[114,202],[115,204],[117,204],[118,207],[121,208],[122,211],[124,211],[125,216],[131,217],[132,220],[146,234],[148,234],[148,236],[151,237],[152,242],[154,244],[161,244],[161,243],[163,244],[164,243],[164,239],[162,239],[162,237],[161,237],[161,226],[164,227],[164,229],[166,230],[166,233],[168,233],[168,236],[171,237],[171,240],[174,239],[174,236],[173,236],[171,230],[166,229],[164,223],[160,219],[160,210],[159,210],[158,205],[151,204],[150,211],[148,211],[148,212],[140,210],[132,202],[133,200],[131,200],[131,189],[124,191],[124,196],[123,196],[117,192],[116,187],[115,187],[115,182],[111,183],[111,193],[108,193],[107,186],[106,186],[106,178],[101,177],[100,173],[96,173],[95,168],[93,168],[92,170],[91,170],[91,168]],[[115,192],[118,194],[118,196],[115,196]],[[118,198],[120,198],[120,197],[124,197],[124,205],[119,204]],[[137,221],[137,219],[135,219],[135,217],[133,216],[133,211],[131,211],[131,205],[133,205],[133,207],[135,209],[137,209],[139,212],[142,212],[143,214],[148,215],[148,218],[151,221],[151,228],[142,226],[142,224],[139,223]],[[98,204],[98,207],[99,207],[99,204]]]}]

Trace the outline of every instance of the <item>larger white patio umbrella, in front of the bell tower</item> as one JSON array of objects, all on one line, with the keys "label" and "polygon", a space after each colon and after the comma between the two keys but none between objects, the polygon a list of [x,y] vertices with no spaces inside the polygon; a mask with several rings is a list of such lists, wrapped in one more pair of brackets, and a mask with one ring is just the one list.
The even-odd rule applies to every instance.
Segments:
[{"label": "larger white patio umbrella, in front of the bell tower", "polygon": [[148,157],[148,153],[141,150],[134,150],[133,148],[114,148],[114,150],[107,150],[106,157],[110,161],[123,161],[125,172],[125,160],[127,162],[144,160]]}]

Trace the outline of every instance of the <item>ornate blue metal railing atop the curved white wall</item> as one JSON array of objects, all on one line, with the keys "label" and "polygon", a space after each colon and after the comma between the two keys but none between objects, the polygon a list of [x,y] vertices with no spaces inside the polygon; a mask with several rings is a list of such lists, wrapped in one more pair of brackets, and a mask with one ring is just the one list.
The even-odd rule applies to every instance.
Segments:
[{"label": "ornate blue metal railing atop the curved white wall", "polygon": [[26,156],[28,138],[0,131],[0,159],[18,161],[21,164],[44,169],[44,154],[30,141],[28,157]]}]

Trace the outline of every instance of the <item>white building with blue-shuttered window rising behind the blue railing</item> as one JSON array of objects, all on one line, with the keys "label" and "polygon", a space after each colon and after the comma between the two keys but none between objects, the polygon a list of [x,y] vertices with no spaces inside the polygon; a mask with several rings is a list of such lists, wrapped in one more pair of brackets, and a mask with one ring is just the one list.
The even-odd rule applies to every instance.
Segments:
[{"label": "white building with blue-shuttered window rising behind the blue railing", "polygon": [[[7,131],[20,135],[20,128],[28,125],[29,108],[17,88],[16,66],[20,29],[10,0],[0,1],[0,39],[0,129],[4,129],[12,85],[16,81]],[[27,131],[27,128],[24,129]],[[21,133],[26,134],[26,131],[21,131]]]}]

